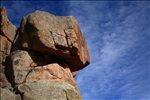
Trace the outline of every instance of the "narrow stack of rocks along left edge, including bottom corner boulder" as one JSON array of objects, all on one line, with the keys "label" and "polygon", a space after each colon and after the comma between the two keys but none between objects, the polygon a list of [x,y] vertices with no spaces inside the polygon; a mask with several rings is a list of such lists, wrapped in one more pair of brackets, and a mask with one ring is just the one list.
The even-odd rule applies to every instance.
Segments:
[{"label": "narrow stack of rocks along left edge, including bottom corner boulder", "polygon": [[0,9],[0,94],[1,100],[15,100],[11,84],[6,78],[8,56],[13,45],[16,27],[8,20],[6,9]]}]

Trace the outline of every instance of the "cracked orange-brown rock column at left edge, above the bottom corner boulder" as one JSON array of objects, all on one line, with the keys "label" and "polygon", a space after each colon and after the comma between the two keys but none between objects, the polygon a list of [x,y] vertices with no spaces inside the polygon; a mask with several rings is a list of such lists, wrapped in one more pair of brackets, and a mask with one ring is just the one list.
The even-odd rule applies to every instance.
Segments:
[{"label": "cracked orange-brown rock column at left edge, above the bottom corner boulder", "polygon": [[10,54],[16,27],[7,18],[4,8],[0,9],[0,87],[10,87],[4,74],[7,56]]}]

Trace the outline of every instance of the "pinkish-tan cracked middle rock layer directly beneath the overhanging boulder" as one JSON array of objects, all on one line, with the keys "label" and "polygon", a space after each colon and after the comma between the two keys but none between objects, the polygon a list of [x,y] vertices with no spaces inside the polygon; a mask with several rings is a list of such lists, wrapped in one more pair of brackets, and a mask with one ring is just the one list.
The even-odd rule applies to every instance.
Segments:
[{"label": "pinkish-tan cracked middle rock layer directly beneath the overhanging boulder", "polygon": [[38,80],[66,81],[76,87],[71,71],[68,68],[63,68],[57,63],[43,65],[39,59],[42,59],[42,56],[40,58],[37,53],[31,51],[17,50],[12,52],[10,67],[13,73],[9,71],[8,75],[10,74],[9,76],[11,76],[9,79],[13,79],[14,84]]}]

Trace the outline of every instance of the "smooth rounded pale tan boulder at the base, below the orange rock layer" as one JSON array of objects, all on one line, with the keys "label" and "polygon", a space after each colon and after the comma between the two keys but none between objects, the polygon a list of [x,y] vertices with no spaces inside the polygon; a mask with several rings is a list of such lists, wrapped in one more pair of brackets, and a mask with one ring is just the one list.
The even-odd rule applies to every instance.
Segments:
[{"label": "smooth rounded pale tan boulder at the base, below the orange rock layer", "polygon": [[81,100],[72,85],[60,81],[24,83],[18,86],[18,90],[23,94],[23,100]]}]

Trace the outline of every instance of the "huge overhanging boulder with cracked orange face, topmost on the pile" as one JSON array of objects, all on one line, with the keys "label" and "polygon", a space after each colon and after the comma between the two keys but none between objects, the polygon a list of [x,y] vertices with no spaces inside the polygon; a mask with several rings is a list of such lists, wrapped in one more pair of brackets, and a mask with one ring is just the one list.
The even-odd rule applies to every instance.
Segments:
[{"label": "huge overhanging boulder with cracked orange face, topmost on the pile", "polygon": [[84,36],[72,16],[54,16],[43,11],[31,13],[22,19],[18,43],[19,49],[62,58],[71,71],[80,70],[90,63]]}]

